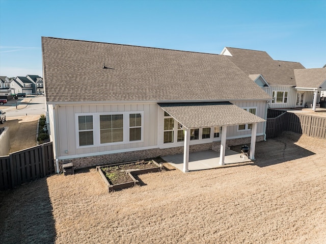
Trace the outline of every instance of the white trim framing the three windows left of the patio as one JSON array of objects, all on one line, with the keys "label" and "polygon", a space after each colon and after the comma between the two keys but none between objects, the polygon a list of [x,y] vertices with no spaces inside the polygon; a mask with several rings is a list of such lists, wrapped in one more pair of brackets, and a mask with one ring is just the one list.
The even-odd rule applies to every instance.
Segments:
[{"label": "white trim framing the three windows left of the patio", "polygon": [[[123,141],[114,143],[100,143],[100,115],[123,115]],[[141,140],[129,141],[129,114],[141,114],[142,126],[141,126]],[[79,130],[78,130],[78,116],[93,116],[93,145],[79,146]],[[101,113],[76,113],[75,114],[75,140],[76,148],[91,148],[91,147],[102,147],[112,146],[130,143],[144,142],[144,111],[128,111],[128,112],[101,112]]]}]

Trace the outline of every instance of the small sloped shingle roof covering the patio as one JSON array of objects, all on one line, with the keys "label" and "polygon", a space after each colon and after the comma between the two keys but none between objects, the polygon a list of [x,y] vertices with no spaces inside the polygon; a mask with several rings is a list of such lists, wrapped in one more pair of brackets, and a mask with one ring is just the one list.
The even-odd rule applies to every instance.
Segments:
[{"label": "small sloped shingle roof covering the patio", "polygon": [[230,102],[158,103],[188,129],[264,122]]}]

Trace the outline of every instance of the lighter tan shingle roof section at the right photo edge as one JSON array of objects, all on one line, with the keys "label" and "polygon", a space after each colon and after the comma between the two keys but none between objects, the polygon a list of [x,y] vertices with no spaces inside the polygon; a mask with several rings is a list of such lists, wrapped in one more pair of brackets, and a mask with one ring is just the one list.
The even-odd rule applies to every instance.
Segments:
[{"label": "lighter tan shingle roof section at the right photo edge", "polygon": [[319,88],[326,81],[326,68],[295,69],[296,86]]}]

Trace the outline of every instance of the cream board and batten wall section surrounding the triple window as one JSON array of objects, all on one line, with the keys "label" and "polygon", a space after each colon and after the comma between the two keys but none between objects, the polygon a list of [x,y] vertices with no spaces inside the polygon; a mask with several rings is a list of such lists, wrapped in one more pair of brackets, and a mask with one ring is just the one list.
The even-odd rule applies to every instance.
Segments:
[{"label": "cream board and batten wall section surrounding the triple window", "polygon": [[[157,104],[60,105],[57,110],[57,156],[92,154],[157,145]],[[144,112],[143,140],[136,143],[77,148],[75,114],[105,112]],[[59,128],[60,124],[60,128]]]}]

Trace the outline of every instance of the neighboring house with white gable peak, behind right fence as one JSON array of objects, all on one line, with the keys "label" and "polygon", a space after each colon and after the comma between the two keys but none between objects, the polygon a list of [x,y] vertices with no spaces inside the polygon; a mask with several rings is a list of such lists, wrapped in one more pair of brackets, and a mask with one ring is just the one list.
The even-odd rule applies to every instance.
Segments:
[{"label": "neighboring house with white gable peak, behind right fence", "polygon": [[[230,61],[273,97],[270,108],[313,107],[315,110],[320,92],[325,90],[326,76],[323,68],[309,72],[300,63],[273,60],[265,51],[225,47],[221,55],[229,57]],[[318,73],[318,80],[310,76],[303,82],[299,81],[303,78],[298,75],[306,73],[308,76]],[[314,96],[314,92],[319,96]]]}]

